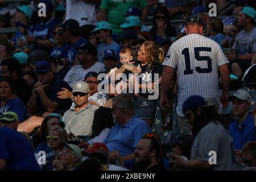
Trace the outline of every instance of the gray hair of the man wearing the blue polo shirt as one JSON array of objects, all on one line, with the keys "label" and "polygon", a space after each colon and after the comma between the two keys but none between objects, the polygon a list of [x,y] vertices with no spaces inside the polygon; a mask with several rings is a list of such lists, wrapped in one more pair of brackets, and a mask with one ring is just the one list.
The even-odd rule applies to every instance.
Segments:
[{"label": "gray hair of the man wearing the blue polo shirt", "polygon": [[117,107],[122,107],[128,112],[134,111],[133,100],[131,99],[131,96],[127,93],[121,93],[118,96],[115,96],[112,102]]}]

